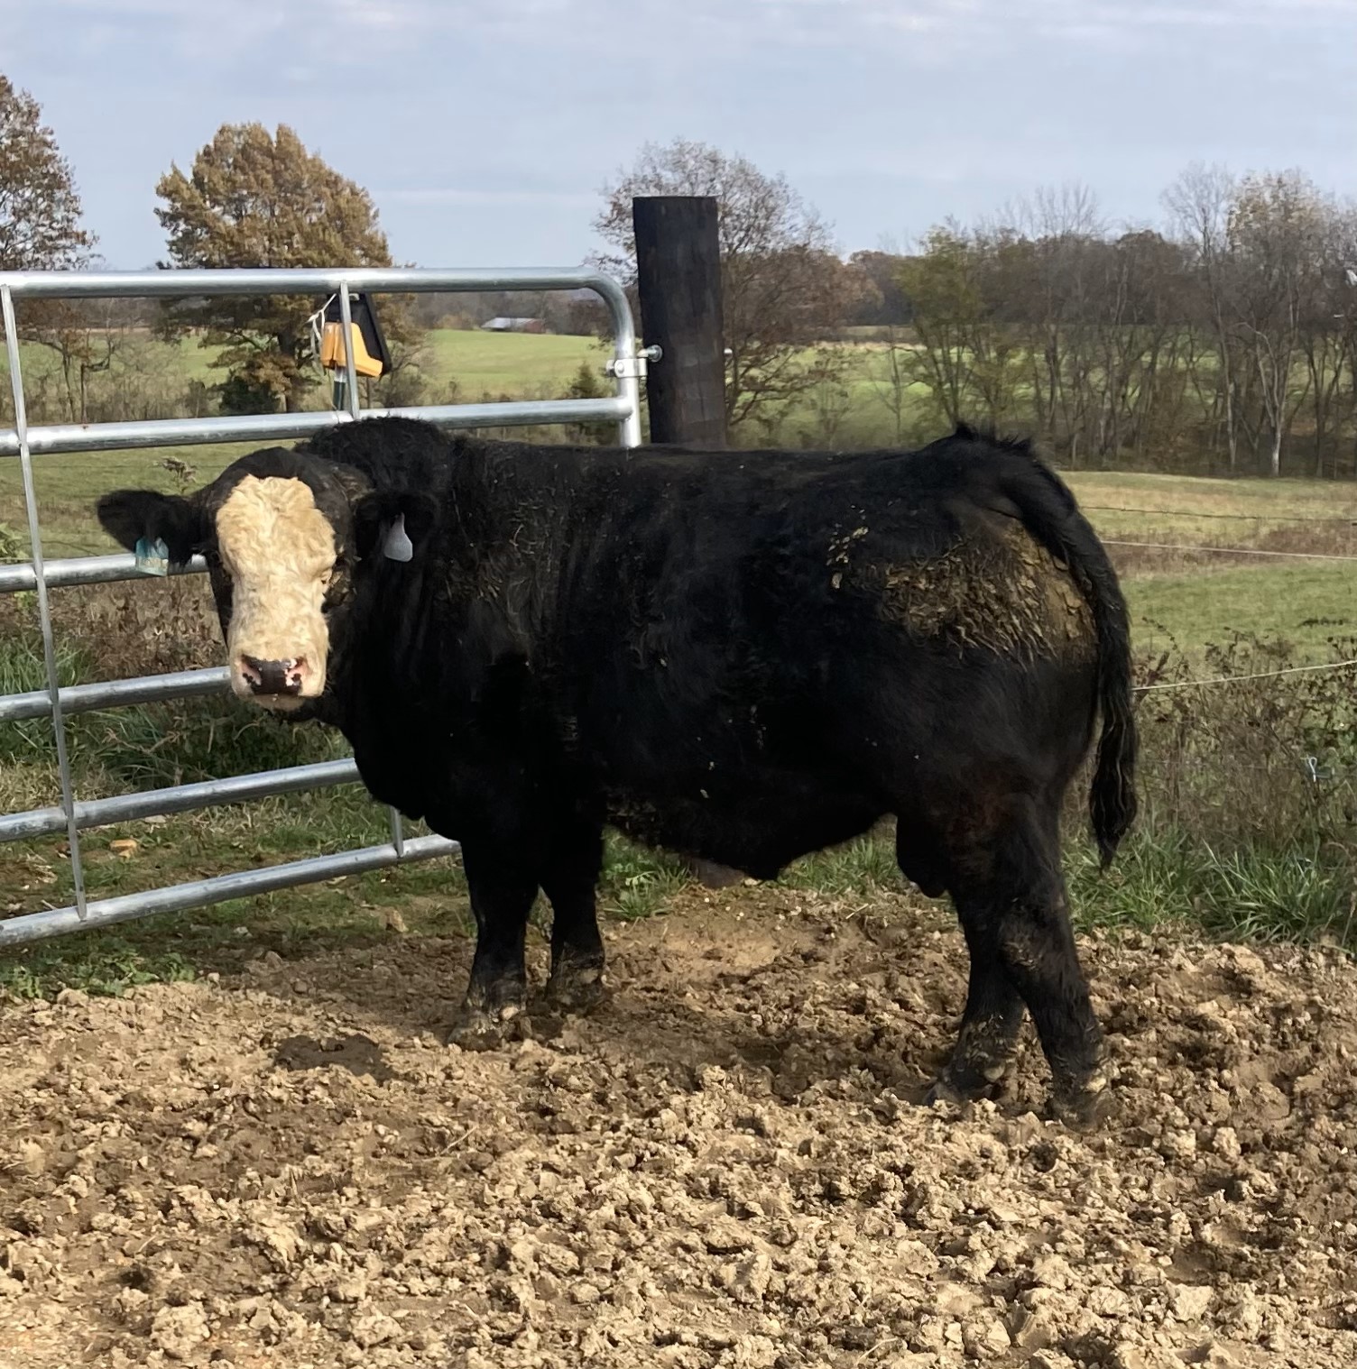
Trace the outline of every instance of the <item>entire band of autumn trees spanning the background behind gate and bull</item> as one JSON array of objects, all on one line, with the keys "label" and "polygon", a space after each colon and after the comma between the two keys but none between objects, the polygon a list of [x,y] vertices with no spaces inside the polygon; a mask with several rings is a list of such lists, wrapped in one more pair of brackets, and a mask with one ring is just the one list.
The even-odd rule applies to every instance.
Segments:
[{"label": "entire band of autumn trees spanning the background behind gate and bull", "polygon": [[[392,264],[368,193],[285,126],[225,125],[155,193],[162,266]],[[1163,222],[1135,230],[1105,222],[1087,190],[1039,192],[909,249],[845,259],[783,177],[698,142],[648,144],[604,188],[594,220],[596,263],[623,281],[635,274],[637,194],[718,201],[726,409],[741,439],[785,438],[798,412],[812,416],[808,439],[833,444],[848,412],[874,404],[898,441],[967,419],[1032,433],[1071,465],[1357,476],[1357,209],[1299,171],[1194,166],[1165,192]],[[94,248],[37,100],[0,75],[0,270],[79,268]],[[29,303],[25,335],[59,361],[38,408],[84,422],[167,402],[305,407],[319,382],[316,304]],[[601,326],[570,296],[383,298],[394,366],[371,401],[451,398],[429,393],[423,333],[523,312],[553,331]],[[110,376],[127,383],[119,350],[126,360],[147,337],[196,338],[219,379],[177,397],[129,390],[118,412],[94,412],[94,389],[107,409]]]}]

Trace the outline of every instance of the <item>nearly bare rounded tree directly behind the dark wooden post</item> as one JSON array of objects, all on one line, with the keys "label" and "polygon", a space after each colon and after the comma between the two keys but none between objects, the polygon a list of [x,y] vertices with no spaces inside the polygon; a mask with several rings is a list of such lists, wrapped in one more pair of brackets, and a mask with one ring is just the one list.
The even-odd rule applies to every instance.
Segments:
[{"label": "nearly bare rounded tree directly behind the dark wooden post", "polygon": [[789,400],[831,383],[845,364],[833,345],[854,307],[860,272],[839,260],[830,230],[781,175],[683,138],[646,144],[604,188],[594,229],[609,246],[598,264],[635,281],[631,201],[642,194],[713,196],[722,252],[728,366],[726,420],[771,428]]}]

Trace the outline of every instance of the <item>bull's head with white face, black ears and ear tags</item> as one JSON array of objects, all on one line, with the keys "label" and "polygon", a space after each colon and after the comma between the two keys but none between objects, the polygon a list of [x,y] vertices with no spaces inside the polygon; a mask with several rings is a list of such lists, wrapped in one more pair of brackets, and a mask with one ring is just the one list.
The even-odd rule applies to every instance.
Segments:
[{"label": "bull's head with white face, black ears and ear tags", "polygon": [[189,497],[116,490],[97,509],[129,550],[159,539],[173,564],[207,559],[231,689],[279,712],[325,693],[363,576],[403,554],[393,528],[401,543],[407,522],[414,537],[430,516],[427,497],[374,490],[360,471],[305,448],[252,452]]}]

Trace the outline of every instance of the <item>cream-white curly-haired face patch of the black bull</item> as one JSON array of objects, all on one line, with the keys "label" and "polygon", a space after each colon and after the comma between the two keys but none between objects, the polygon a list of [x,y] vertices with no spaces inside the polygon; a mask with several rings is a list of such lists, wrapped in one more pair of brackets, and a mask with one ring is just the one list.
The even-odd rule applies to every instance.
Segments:
[{"label": "cream-white curly-haired face patch of the black bull", "polygon": [[[330,649],[325,600],[337,546],[311,486],[245,475],[211,516],[220,572],[230,582],[225,627],[231,689],[279,712],[319,698]],[[220,602],[216,583],[214,590]]]}]

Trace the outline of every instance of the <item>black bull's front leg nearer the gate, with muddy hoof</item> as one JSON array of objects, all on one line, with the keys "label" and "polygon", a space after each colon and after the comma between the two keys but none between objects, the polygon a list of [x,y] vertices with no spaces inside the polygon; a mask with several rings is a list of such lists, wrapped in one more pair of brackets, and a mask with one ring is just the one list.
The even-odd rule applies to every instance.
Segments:
[{"label": "black bull's front leg nearer the gate, with muddy hoof", "polygon": [[477,920],[477,950],[449,1040],[487,1049],[530,1031],[523,943],[538,886],[535,873],[524,872],[522,853],[515,857],[472,841],[463,845],[461,861]]}]

